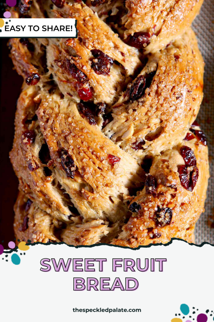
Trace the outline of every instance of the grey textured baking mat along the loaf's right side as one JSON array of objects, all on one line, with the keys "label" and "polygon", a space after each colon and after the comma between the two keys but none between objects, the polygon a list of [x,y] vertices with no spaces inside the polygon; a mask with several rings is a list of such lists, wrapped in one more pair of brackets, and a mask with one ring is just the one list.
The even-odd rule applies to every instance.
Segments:
[{"label": "grey textured baking mat along the loaf's right side", "polygon": [[195,228],[195,243],[214,244],[214,2],[205,0],[200,14],[193,21],[204,62],[204,98],[197,117],[208,139],[210,179],[205,203]]}]

